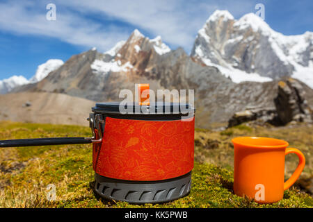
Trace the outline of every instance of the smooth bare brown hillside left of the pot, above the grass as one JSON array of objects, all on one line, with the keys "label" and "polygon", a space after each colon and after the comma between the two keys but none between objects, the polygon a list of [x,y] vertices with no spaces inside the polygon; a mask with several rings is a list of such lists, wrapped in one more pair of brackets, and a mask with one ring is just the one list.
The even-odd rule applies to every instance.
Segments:
[{"label": "smooth bare brown hillside left of the pot, above the grass", "polygon": [[0,120],[89,126],[94,101],[66,94],[20,92],[0,95]]}]

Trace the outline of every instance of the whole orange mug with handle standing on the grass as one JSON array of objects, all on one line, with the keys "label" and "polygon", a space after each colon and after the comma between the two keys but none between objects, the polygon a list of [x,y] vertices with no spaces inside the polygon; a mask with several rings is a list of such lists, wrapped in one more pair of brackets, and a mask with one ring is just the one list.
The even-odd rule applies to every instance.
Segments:
[{"label": "whole orange mug with handle standing on the grass", "polygon": [[[257,203],[275,203],[296,182],[305,167],[305,157],[284,140],[266,137],[236,137],[234,144],[234,194]],[[296,153],[299,164],[284,182],[284,156]]]}]

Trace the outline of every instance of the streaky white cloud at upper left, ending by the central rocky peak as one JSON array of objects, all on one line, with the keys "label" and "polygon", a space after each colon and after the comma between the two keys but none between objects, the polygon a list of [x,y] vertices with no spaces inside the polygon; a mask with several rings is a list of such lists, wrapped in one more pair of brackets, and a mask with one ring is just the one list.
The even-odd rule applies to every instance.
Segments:
[{"label": "streaky white cloud at upper left, ending by the central rocky peak", "polygon": [[[106,27],[70,12],[57,14],[56,21],[48,21],[46,10],[29,10],[33,3],[0,3],[0,29],[19,35],[45,35],[64,42],[97,49],[109,49],[129,33],[118,27]],[[42,6],[45,9],[45,6]]]}]

